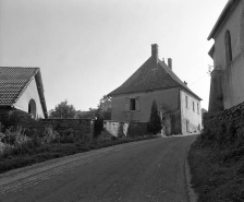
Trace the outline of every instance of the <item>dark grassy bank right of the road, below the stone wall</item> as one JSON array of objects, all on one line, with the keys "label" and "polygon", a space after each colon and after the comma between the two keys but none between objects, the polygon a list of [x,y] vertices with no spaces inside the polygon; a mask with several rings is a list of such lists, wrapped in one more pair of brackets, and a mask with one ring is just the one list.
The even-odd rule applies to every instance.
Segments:
[{"label": "dark grassy bank right of the road, below the stone wall", "polygon": [[244,201],[244,141],[203,141],[197,136],[188,152],[192,185],[199,202]]}]

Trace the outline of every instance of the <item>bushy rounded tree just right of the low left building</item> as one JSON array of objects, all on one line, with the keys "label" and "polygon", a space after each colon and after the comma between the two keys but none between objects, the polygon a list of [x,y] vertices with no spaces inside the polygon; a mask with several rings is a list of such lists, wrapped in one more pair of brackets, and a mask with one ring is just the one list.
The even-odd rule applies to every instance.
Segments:
[{"label": "bushy rounded tree just right of the low left building", "polygon": [[58,104],[54,109],[49,110],[49,118],[72,119],[75,118],[76,111],[73,105],[68,105],[68,100]]}]

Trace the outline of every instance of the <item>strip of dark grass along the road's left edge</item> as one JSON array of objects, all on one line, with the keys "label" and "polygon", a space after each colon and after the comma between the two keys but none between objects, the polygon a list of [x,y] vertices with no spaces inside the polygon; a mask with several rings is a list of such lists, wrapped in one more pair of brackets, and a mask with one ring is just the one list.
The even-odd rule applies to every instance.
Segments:
[{"label": "strip of dark grass along the road's left edge", "polygon": [[88,142],[77,141],[74,143],[49,143],[32,147],[32,151],[27,151],[26,153],[10,151],[9,153],[0,154],[0,174],[52,158],[59,158],[76,153],[88,152],[90,150],[155,138],[158,136],[148,135],[121,139],[114,138],[110,140],[93,140]]}]

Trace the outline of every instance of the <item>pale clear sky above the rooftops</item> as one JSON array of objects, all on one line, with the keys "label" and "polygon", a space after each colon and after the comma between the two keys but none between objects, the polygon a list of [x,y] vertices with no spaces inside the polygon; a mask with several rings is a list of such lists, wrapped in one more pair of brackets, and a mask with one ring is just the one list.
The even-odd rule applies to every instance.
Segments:
[{"label": "pale clear sky above the rooftops", "polygon": [[151,55],[208,109],[207,37],[227,0],[0,0],[0,67],[39,67],[48,110],[97,107]]}]

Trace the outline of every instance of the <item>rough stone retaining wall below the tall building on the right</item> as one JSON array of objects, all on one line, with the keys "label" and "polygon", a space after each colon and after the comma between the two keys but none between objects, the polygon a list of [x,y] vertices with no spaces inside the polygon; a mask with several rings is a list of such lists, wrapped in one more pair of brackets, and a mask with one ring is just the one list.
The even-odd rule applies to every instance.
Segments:
[{"label": "rough stone retaining wall below the tall building on the right", "polygon": [[243,135],[244,131],[244,103],[241,103],[232,108],[225,109],[218,114],[204,114],[203,124],[204,130],[210,130],[213,133],[218,132],[221,124],[233,124],[237,135]]}]

